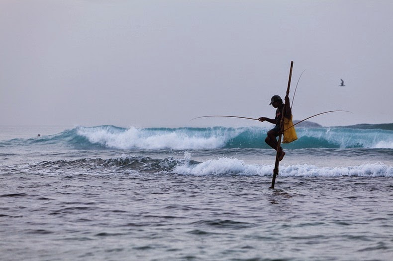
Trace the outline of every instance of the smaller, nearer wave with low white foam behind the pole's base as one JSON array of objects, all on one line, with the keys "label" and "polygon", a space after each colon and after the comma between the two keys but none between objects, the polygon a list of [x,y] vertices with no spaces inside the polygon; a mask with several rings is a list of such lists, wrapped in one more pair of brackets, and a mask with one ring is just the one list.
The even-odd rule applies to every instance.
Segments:
[{"label": "smaller, nearer wave with low white foam behind the pole's base", "polygon": [[[117,157],[110,159],[77,159],[42,161],[20,166],[9,166],[10,172],[28,171],[46,175],[122,175],[178,174],[193,176],[247,175],[272,176],[274,165],[246,164],[236,158],[209,159],[203,162],[191,160],[186,152],[183,159],[168,157]],[[12,169],[12,170],[11,170]],[[98,174],[99,173],[99,174]],[[383,163],[368,163],[346,167],[317,167],[309,164],[280,166],[281,177],[393,177],[393,166]]]}]

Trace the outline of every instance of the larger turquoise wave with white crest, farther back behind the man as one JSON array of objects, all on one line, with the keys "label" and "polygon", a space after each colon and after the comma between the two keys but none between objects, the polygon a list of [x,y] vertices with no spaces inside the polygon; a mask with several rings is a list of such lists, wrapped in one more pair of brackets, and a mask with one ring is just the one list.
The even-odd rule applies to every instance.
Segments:
[{"label": "larger turquoise wave with white crest, farther back behind the man", "polygon": [[[297,128],[298,140],[286,148],[393,148],[393,130],[355,127]],[[267,128],[119,128],[77,127],[56,135],[12,139],[0,146],[59,144],[76,149],[269,148]]]}]

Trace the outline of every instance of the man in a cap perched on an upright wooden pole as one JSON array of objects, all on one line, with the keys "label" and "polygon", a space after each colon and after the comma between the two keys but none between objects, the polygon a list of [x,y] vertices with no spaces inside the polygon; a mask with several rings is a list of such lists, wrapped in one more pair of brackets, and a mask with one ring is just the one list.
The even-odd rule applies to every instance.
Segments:
[{"label": "man in a cap perched on an upright wooden pole", "polygon": [[[279,95],[274,95],[272,97],[271,103],[270,105],[272,105],[274,108],[276,108],[276,117],[274,119],[269,119],[267,117],[260,117],[258,118],[258,120],[260,122],[269,122],[272,124],[275,124],[276,126],[268,131],[267,133],[267,137],[265,138],[265,142],[271,146],[272,148],[274,148],[275,150],[277,150],[278,146],[278,141],[277,141],[277,136],[279,136],[282,131],[281,128],[281,119],[282,119],[282,112],[284,112],[284,117],[289,120],[292,120],[292,110],[291,110],[291,106],[289,106],[290,104],[290,99],[288,96],[285,97],[285,103],[288,106],[285,106],[285,104],[283,103],[283,100],[281,99],[281,97]],[[283,110],[285,107],[285,110]],[[285,152],[283,150],[283,148],[280,146],[279,147],[279,161],[281,161],[285,156]]]}]

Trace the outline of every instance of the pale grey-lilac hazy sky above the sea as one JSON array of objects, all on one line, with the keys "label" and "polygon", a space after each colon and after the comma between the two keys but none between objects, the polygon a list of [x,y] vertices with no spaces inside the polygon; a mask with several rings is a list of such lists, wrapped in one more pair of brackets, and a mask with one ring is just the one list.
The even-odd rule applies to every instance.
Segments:
[{"label": "pale grey-lilac hazy sky above the sea", "polygon": [[[1,125],[392,123],[391,0],[0,0]],[[339,87],[340,78],[346,85]]]}]

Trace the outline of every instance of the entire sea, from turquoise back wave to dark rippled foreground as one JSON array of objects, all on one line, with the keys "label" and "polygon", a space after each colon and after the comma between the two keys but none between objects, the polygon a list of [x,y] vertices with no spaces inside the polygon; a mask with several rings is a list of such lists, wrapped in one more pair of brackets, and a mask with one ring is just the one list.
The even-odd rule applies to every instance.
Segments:
[{"label": "entire sea, from turquoise back wave to dark rippled foreground", "polygon": [[0,127],[0,260],[392,260],[393,124],[297,128],[273,190],[266,131]]}]

